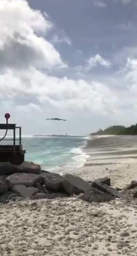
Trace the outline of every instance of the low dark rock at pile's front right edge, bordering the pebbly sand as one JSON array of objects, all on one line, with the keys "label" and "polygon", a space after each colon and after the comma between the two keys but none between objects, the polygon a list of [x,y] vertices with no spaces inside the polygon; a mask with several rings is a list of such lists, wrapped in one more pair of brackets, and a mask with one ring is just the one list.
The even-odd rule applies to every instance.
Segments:
[{"label": "low dark rock at pile's front right edge, bordering the pebbly sand", "polygon": [[103,193],[98,189],[91,188],[83,195],[79,197],[80,199],[87,202],[109,202],[110,200],[114,200],[113,196]]}]

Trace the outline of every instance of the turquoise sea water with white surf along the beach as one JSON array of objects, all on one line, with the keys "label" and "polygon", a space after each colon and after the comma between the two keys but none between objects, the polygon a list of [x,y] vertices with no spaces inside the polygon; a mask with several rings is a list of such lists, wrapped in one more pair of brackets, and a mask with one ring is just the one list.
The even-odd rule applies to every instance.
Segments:
[{"label": "turquoise sea water with white surf along the beach", "polygon": [[25,160],[40,164],[41,169],[64,173],[84,165],[87,137],[24,137]]}]

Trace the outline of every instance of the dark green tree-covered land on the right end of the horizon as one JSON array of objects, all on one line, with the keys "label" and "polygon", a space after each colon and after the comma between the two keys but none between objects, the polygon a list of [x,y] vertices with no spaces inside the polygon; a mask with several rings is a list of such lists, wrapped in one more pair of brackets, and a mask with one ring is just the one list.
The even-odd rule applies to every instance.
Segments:
[{"label": "dark green tree-covered land on the right end of the horizon", "polygon": [[90,135],[137,135],[137,124],[125,127],[122,125],[109,126],[106,129],[99,129]]}]

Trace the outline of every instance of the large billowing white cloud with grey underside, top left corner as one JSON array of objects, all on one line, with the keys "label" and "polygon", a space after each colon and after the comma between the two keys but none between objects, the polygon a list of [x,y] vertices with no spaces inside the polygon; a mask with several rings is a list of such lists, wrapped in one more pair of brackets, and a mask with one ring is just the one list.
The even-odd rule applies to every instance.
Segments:
[{"label": "large billowing white cloud with grey underside, top left corner", "polygon": [[0,0],[0,67],[65,67],[45,37],[53,24],[25,0]]}]

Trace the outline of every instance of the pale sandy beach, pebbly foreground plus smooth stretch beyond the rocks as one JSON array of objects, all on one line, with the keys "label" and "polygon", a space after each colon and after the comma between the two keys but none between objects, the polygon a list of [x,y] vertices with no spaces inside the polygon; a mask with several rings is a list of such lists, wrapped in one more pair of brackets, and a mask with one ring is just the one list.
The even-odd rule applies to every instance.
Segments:
[{"label": "pale sandy beach, pebbly foreground plus smooth stretch beyond the rocks", "polygon": [[[87,181],[108,176],[124,188],[137,178],[137,137],[89,139],[84,167],[73,173]],[[76,195],[54,200],[0,204],[2,256],[136,255],[137,201],[88,203]]]}]

